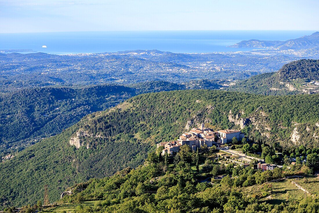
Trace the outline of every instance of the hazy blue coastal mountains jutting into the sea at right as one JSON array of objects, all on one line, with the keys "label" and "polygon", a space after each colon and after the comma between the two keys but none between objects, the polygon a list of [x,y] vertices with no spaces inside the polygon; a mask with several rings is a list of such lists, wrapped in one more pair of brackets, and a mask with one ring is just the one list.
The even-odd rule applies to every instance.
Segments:
[{"label": "hazy blue coastal mountains jutting into the sea at right", "polygon": [[248,48],[272,48],[272,49],[308,49],[319,46],[319,32],[311,35],[304,35],[300,38],[290,39],[287,41],[262,41],[251,39],[248,41],[241,41],[230,47],[248,47]]}]

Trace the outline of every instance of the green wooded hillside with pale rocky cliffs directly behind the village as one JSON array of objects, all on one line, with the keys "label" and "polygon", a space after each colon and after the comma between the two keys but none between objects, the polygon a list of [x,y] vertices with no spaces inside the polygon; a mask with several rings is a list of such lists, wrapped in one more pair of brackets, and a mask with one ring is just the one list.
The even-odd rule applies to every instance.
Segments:
[{"label": "green wooded hillside with pale rocky cliffs directly behind the village", "polygon": [[[1,203],[23,205],[44,184],[70,186],[136,167],[156,142],[176,138],[185,125],[239,128],[271,146],[318,146],[319,96],[259,96],[189,90],[135,96],[108,111],[87,115],[61,134],[27,147],[0,163]],[[292,135],[298,137],[292,137]],[[71,139],[72,138],[72,139]],[[296,139],[298,138],[298,139]],[[70,140],[71,139],[71,140]],[[79,149],[70,142],[78,142]],[[61,189],[52,189],[57,199]]]}]

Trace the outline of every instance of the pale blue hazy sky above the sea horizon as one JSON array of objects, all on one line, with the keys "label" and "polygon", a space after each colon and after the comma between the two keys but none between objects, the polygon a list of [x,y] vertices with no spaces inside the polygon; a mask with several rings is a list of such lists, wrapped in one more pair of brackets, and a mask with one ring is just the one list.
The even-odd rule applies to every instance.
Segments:
[{"label": "pale blue hazy sky above the sea horizon", "polygon": [[0,33],[318,30],[318,0],[0,0]]}]

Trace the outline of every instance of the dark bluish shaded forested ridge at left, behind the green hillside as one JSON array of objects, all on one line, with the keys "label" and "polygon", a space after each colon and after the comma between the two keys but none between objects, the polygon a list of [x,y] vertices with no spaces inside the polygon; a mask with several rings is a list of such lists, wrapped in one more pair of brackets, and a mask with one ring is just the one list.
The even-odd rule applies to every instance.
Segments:
[{"label": "dark bluish shaded forested ridge at left, behind the green hillside", "polygon": [[154,81],[129,86],[34,87],[0,94],[0,157],[56,135],[85,115],[137,94],[184,89],[185,85]]}]

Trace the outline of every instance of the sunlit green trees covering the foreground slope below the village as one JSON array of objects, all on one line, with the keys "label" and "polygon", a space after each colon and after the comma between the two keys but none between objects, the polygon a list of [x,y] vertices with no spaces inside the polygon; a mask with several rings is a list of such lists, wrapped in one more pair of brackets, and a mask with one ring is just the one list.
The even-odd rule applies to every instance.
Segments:
[{"label": "sunlit green trees covering the foreground slope below the village", "polygon": [[[254,170],[227,162],[217,156],[212,147],[208,152],[191,151],[188,145],[174,155],[160,154],[162,147],[150,152],[145,164],[136,169],[125,168],[114,176],[93,178],[88,182],[69,188],[71,194],[63,196],[58,206],[73,204],[74,213],[317,213],[319,192],[303,197],[298,188],[293,189],[298,197],[283,201],[276,197],[278,187],[272,180],[285,185],[285,179],[293,175],[307,175],[309,169],[302,164],[299,169]],[[319,151],[319,150],[318,150]],[[211,184],[211,177],[223,175]],[[302,184],[319,183],[313,176],[303,176]],[[301,184],[300,183],[300,184]],[[54,187],[52,185],[51,187]],[[251,189],[258,188],[257,191]],[[292,192],[291,192],[292,193]],[[299,194],[301,194],[301,197]],[[289,194],[289,193],[288,193]],[[271,198],[268,202],[263,199]],[[87,206],[86,201],[95,201]],[[41,201],[28,209],[42,210]],[[10,211],[7,209],[7,211]],[[43,209],[43,212],[56,212]],[[60,211],[63,212],[63,211]]]}]

